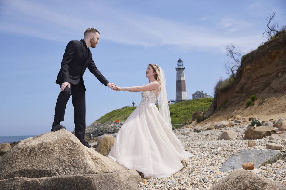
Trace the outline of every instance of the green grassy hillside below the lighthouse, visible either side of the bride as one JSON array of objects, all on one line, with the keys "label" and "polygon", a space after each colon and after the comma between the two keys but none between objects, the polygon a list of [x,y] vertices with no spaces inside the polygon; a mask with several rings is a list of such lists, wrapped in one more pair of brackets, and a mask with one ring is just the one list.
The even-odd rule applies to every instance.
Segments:
[{"label": "green grassy hillside below the lighthouse, visible either side of the bride", "polygon": [[[212,100],[213,98],[198,98],[170,104],[169,109],[172,124],[183,124],[186,120],[192,119],[194,112],[207,111]],[[125,121],[135,108],[136,107],[122,107],[121,109],[113,110],[100,117],[94,123],[106,123],[114,120]]]}]

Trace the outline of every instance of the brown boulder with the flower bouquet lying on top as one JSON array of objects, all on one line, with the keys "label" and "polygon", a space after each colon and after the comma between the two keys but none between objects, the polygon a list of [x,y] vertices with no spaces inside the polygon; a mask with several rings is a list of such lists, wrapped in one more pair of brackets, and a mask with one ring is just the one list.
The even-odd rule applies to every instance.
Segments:
[{"label": "brown boulder with the flower bouquet lying on top", "polygon": [[262,125],[257,126],[255,129],[253,126],[250,126],[244,135],[244,139],[262,139],[272,134],[276,134],[276,130],[272,126]]}]

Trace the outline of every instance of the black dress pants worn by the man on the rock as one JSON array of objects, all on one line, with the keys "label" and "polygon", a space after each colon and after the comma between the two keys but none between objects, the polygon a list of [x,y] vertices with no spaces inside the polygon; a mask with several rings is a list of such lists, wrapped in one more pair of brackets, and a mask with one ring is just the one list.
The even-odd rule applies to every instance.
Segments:
[{"label": "black dress pants worn by the man on the rock", "polygon": [[64,121],[66,104],[70,96],[72,96],[72,105],[74,106],[75,136],[77,138],[84,138],[86,130],[86,92],[82,78],[76,85],[70,83],[70,88],[66,86],[60,92],[57,97],[54,121]]}]

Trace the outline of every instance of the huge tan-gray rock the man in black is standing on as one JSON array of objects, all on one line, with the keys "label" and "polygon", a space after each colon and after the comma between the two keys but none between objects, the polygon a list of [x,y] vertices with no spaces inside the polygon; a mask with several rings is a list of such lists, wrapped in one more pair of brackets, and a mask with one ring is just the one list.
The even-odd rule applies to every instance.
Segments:
[{"label": "huge tan-gray rock the man in black is standing on", "polygon": [[138,189],[142,178],[60,129],[22,140],[0,162],[1,189]]}]

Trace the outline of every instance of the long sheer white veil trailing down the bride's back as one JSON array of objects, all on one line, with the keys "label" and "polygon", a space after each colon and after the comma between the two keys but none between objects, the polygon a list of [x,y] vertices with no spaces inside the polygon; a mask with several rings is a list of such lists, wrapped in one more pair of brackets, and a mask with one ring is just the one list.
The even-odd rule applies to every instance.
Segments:
[{"label": "long sheer white veil trailing down the bride's back", "polygon": [[167,91],[166,91],[166,77],[161,67],[159,67],[159,71],[160,71],[160,79],[161,79],[161,91],[158,96],[159,112],[161,113],[164,120],[166,121],[167,126],[172,129],[171,116],[170,116]]}]

